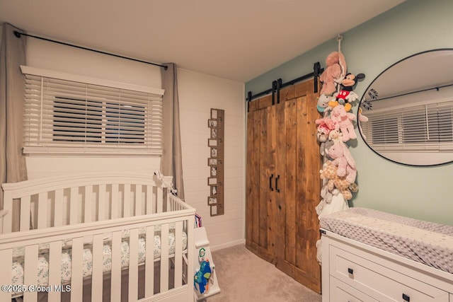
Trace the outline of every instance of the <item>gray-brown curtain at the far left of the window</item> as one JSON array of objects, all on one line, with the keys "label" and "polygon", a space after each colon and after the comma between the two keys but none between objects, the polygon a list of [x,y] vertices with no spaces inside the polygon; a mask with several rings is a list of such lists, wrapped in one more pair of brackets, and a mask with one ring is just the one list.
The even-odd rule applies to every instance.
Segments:
[{"label": "gray-brown curtain at the far left of the window", "polygon": [[[27,179],[23,146],[23,106],[25,77],[25,36],[14,35],[23,30],[3,24],[0,47],[0,182],[18,182]],[[0,209],[3,209],[3,191],[0,190]],[[18,204],[13,206],[13,231],[18,230]],[[17,215],[16,215],[17,214]]]}]

